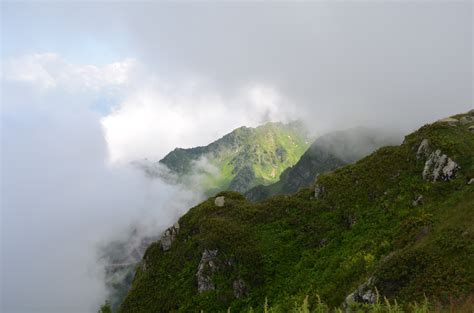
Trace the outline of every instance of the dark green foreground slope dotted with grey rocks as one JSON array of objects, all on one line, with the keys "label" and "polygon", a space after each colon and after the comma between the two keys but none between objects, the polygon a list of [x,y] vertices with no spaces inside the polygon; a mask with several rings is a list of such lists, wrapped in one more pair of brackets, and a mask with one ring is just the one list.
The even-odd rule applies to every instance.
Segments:
[{"label": "dark green foreground slope dotted with grey rocks", "polygon": [[[164,243],[166,243],[164,245]],[[222,192],[138,266],[121,312],[232,312],[474,294],[474,110],[259,203]],[[267,299],[267,300],[266,300]],[[472,303],[472,302],[471,302]]]}]

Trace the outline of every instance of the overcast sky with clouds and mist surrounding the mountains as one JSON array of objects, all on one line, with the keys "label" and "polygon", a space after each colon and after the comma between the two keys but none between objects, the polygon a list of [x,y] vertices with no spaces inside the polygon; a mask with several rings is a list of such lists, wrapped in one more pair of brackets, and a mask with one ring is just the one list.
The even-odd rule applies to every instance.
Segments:
[{"label": "overcast sky with clouds and mist surrounding the mountains", "polygon": [[266,121],[407,133],[474,107],[471,1],[3,1],[1,15],[7,313],[95,312],[97,245],[200,199],[130,161]]}]

